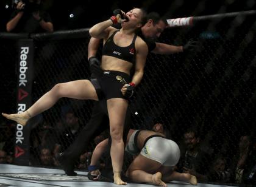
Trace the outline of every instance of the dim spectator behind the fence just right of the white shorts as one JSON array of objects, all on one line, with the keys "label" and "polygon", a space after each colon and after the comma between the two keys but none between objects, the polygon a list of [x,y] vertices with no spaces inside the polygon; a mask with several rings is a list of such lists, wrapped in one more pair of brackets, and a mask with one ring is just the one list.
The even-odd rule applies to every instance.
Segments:
[{"label": "dim spectator behind the fence just right of the white shorts", "polygon": [[183,134],[185,151],[181,152],[178,168],[180,172],[189,173],[197,177],[199,182],[207,182],[210,155],[202,151],[200,138],[196,129],[188,129]]}]

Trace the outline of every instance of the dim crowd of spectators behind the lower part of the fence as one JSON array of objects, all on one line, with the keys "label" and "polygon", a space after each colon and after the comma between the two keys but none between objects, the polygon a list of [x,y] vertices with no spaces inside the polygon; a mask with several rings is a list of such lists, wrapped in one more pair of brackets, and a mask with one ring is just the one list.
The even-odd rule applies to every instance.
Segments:
[{"label": "dim crowd of spectators behind the lower part of the fence", "polygon": [[[55,123],[47,124],[43,120],[40,121],[30,132],[30,165],[60,168],[58,154],[73,143],[84,125],[86,124],[80,123],[79,117],[73,110],[67,111]],[[5,133],[1,134],[0,139],[0,163],[12,164],[15,124],[10,122],[1,124],[1,129]],[[172,132],[163,123],[155,122],[148,130],[162,132],[172,139]],[[77,160],[76,169],[87,171],[93,149],[107,137],[107,131],[94,137],[88,150],[84,150],[84,154],[80,155]],[[219,152],[213,150],[207,142],[215,140],[201,139],[201,137],[202,134],[198,129],[191,127],[184,131],[183,137],[176,140],[181,150],[181,157],[176,166],[177,171],[195,175],[199,182],[256,184],[256,138],[254,134],[238,135],[237,140],[232,140],[232,143],[237,142],[233,157],[226,157],[224,152],[221,152],[223,148],[219,148]],[[204,137],[210,137],[210,135]],[[126,157],[124,159],[126,160]],[[129,161],[126,160],[124,163],[127,165]],[[104,158],[99,165],[100,168],[104,168]]]}]

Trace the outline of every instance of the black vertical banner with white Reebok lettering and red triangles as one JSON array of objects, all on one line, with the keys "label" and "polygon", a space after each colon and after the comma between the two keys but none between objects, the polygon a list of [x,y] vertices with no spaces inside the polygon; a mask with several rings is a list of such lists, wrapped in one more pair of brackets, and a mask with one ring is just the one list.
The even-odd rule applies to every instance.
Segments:
[{"label": "black vertical banner with white Reebok lettering and red triangles", "polygon": [[[18,42],[18,87],[17,112],[27,110],[32,104],[34,43],[32,39],[20,39]],[[29,125],[16,126],[15,164],[29,165]]]}]

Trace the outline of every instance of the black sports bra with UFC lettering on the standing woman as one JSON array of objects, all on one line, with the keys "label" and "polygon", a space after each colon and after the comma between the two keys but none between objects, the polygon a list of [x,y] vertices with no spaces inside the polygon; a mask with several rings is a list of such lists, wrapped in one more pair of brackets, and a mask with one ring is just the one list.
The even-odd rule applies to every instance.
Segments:
[{"label": "black sports bra with UFC lettering on the standing woman", "polygon": [[113,56],[121,60],[128,61],[129,63],[135,64],[135,61],[136,61],[135,40],[137,38],[137,35],[134,35],[132,39],[132,43],[129,46],[120,47],[120,46],[116,46],[114,42],[114,36],[118,31],[119,30],[115,30],[115,32],[113,32],[113,34],[107,39],[102,49],[102,55]]}]

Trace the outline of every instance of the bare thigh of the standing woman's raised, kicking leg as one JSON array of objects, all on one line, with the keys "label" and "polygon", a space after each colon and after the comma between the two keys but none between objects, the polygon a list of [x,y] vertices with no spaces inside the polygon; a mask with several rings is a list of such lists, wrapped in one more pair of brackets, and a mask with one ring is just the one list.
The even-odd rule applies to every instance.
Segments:
[{"label": "bare thigh of the standing woman's raised, kicking leg", "polygon": [[79,100],[98,100],[96,90],[89,80],[77,80],[57,84],[61,97],[75,98]]}]

